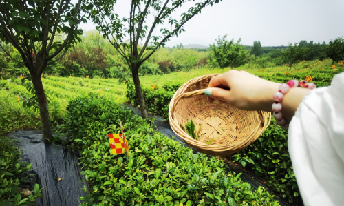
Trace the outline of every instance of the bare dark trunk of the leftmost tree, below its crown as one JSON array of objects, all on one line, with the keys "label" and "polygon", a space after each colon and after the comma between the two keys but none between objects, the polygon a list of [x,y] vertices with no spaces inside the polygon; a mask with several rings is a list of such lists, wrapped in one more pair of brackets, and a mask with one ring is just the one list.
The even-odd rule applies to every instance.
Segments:
[{"label": "bare dark trunk of the leftmost tree, below its crown", "polygon": [[43,89],[43,83],[41,81],[41,75],[32,75],[32,84],[36,91],[37,101],[39,102],[39,114],[41,116],[43,137],[44,140],[53,140],[52,128],[50,127],[49,111],[47,110],[47,99],[45,98],[45,92]]}]

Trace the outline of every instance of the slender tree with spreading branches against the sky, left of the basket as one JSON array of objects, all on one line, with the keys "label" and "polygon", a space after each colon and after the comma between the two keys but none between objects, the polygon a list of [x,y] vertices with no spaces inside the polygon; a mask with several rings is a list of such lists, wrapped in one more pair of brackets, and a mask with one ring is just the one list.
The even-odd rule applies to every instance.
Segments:
[{"label": "slender tree with spreading branches against the sky, left of the basket", "polygon": [[[180,19],[173,19],[171,14],[184,9],[184,3],[188,1],[131,0],[129,17],[122,19],[114,10],[116,0],[94,1],[94,8],[91,10],[92,21],[97,24],[96,29],[104,34],[129,65],[144,119],[148,115],[138,77],[140,65],[156,50],[164,47],[171,37],[184,32],[183,25],[199,14],[204,7],[213,6],[219,1],[221,0],[193,1],[194,6],[183,12]],[[153,19],[150,25],[147,24],[149,17]],[[169,24],[168,28],[164,27],[165,23]],[[140,41],[142,45],[139,45]]]}]

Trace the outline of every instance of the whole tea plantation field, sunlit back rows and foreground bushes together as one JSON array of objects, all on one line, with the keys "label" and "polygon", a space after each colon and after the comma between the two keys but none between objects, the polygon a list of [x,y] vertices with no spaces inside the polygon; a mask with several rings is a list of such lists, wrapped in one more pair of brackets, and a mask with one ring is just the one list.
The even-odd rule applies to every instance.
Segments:
[{"label": "whole tea plantation field, sunlit back rows and foreground bushes together", "polygon": [[[312,76],[317,87],[322,87],[330,85],[335,74],[344,72],[342,62],[331,63],[330,59],[301,61],[295,63],[291,72],[286,66],[244,65],[235,70],[280,83]],[[168,103],[180,85],[196,76],[230,69],[203,68],[140,76],[147,110],[166,118]],[[253,190],[237,174],[226,175],[223,161],[192,154],[191,150],[155,132],[151,123],[122,107],[120,103],[138,105],[135,91],[131,87],[127,89],[130,78],[119,81],[42,76],[42,81],[50,99],[52,125],[60,126],[62,132],[72,136],[64,144],[81,154],[83,175],[90,186],[89,196],[80,199],[82,205],[279,205],[264,189]],[[22,107],[23,100],[31,96],[19,77],[0,80],[0,136],[12,130],[41,126],[39,113],[32,107]],[[120,132],[118,119],[122,119],[130,136],[129,158],[110,156],[108,152],[106,134]],[[288,134],[275,121],[272,120],[258,141],[226,159],[265,178],[268,187],[288,198],[290,203],[297,200],[299,189],[288,154]]]}]

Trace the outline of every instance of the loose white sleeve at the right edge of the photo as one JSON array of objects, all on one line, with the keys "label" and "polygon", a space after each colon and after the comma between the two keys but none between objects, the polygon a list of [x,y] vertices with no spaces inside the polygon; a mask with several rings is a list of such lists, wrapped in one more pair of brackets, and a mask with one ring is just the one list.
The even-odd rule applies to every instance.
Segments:
[{"label": "loose white sleeve at the right edge of the photo", "polygon": [[303,203],[344,205],[344,72],[303,98],[288,136]]}]

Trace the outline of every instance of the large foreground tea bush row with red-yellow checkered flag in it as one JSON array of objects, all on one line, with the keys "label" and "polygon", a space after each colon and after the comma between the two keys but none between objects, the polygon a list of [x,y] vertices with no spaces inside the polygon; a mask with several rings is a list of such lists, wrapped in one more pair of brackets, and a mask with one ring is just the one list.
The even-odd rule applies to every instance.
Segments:
[{"label": "large foreground tea bush row with red-yellow checkered flag in it", "polygon": [[[110,154],[107,134],[120,133],[125,154]],[[262,187],[253,190],[224,163],[173,141],[123,105],[99,96],[70,101],[63,131],[80,150],[89,194],[81,205],[279,205]],[[86,187],[83,189],[87,190]]]}]

